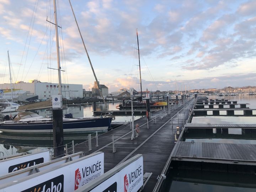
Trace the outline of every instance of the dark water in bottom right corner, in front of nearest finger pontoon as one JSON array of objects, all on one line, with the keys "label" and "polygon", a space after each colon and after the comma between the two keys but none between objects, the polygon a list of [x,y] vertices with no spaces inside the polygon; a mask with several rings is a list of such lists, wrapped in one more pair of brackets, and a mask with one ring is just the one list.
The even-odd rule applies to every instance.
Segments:
[{"label": "dark water in bottom right corner, in front of nearest finger pontoon", "polygon": [[256,176],[227,172],[171,169],[161,192],[252,192]]}]

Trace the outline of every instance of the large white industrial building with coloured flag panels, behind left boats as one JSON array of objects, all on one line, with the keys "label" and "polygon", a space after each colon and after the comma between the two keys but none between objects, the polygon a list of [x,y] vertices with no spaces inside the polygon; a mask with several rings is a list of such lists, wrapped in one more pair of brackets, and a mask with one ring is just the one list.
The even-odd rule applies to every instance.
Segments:
[{"label": "large white industrial building with coloured flag panels, behind left boats", "polygon": [[[38,80],[32,80],[30,82],[18,81],[12,84],[14,91],[14,100],[27,100],[27,98],[36,97],[38,99],[51,98],[52,95],[58,95],[59,84],[40,82]],[[8,95],[11,98],[10,84],[0,84],[0,98],[1,96],[5,99]],[[2,94],[1,94],[2,92]],[[5,96],[4,96],[5,95]],[[76,98],[83,97],[82,85],[79,84],[62,84],[62,96],[63,98]]]}]

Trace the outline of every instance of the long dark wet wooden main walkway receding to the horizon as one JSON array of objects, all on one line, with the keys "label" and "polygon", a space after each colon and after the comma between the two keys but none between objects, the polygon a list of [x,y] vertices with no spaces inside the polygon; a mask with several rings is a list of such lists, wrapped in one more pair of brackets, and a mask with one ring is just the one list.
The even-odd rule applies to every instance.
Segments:
[{"label": "long dark wet wooden main walkway receding to the horizon", "polygon": [[[193,102],[190,102],[190,105],[192,104]],[[143,154],[144,172],[153,173],[143,191],[153,191],[157,182],[157,176],[161,174],[166,161],[174,148],[174,133],[176,133],[176,126],[180,126],[181,131],[183,126],[183,116],[185,120],[188,117],[190,106],[187,106],[182,110],[184,106],[185,105],[180,106],[175,110],[171,108],[171,113],[169,115],[167,111],[163,114],[164,110],[152,113],[153,118],[149,121],[149,129],[147,128],[145,117],[137,119],[134,122],[134,125],[136,125],[136,123],[140,125],[140,133],[139,137],[134,140],[131,140],[132,133],[130,125],[128,124],[99,135],[98,147],[95,146],[96,139],[93,138],[91,142],[91,151],[88,151],[88,142],[86,141],[75,145],[75,152],[83,151],[85,155],[97,151],[104,152],[105,172],[136,154]],[[175,116],[178,111],[180,111],[179,115]],[[172,121],[171,117],[174,117]],[[114,135],[115,153],[112,153],[112,135]]]}]

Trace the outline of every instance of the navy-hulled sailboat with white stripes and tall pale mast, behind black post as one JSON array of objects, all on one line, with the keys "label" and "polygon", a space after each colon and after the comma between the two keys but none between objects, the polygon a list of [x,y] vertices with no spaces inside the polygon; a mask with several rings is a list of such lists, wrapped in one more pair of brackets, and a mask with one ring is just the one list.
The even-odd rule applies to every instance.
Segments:
[{"label": "navy-hulled sailboat with white stripes and tall pale mast, behind black post", "polygon": [[[60,54],[56,2],[54,2],[55,33],[58,61],[58,80],[59,80],[59,98],[62,98],[62,83],[60,73]],[[55,101],[57,97],[55,97]],[[58,106],[62,112],[62,102]],[[91,117],[91,118],[63,118],[64,133],[84,133],[84,132],[106,132],[111,129],[111,116]],[[18,113],[12,120],[6,120],[0,123],[0,131],[18,134],[49,134],[53,132],[53,119],[39,116],[36,113],[25,111]]]}]

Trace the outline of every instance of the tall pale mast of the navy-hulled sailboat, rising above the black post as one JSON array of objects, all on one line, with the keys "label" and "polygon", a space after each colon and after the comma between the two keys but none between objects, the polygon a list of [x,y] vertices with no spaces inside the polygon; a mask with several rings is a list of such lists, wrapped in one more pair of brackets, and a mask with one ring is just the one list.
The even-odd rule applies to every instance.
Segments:
[{"label": "tall pale mast of the navy-hulled sailboat, rising above the black post", "polygon": [[59,54],[59,33],[58,33],[58,20],[57,20],[56,0],[53,0],[53,6],[54,6],[54,18],[55,18],[56,47],[57,47],[59,95],[62,95],[61,73],[60,73],[60,69],[61,69],[60,68],[60,54]]}]

